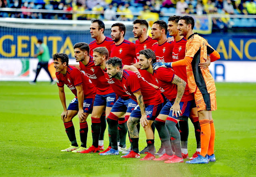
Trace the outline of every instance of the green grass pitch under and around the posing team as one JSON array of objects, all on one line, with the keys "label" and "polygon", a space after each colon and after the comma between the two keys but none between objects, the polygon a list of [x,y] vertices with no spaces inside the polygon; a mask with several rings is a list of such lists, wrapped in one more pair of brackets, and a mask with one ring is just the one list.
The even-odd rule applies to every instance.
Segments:
[{"label": "green grass pitch under and around the posing team", "polygon": [[[48,82],[35,86],[28,82],[0,82],[0,176],[255,176],[256,83],[216,83],[216,87],[218,110],[213,112],[213,118],[217,161],[191,165],[60,152],[70,142],[60,119],[63,109],[58,87]],[[66,86],[65,91],[68,104],[74,95]],[[80,144],[77,116],[73,122]],[[90,117],[88,125],[89,147]],[[139,146],[143,149],[146,138],[141,130]],[[160,140],[158,133],[155,135],[158,149]],[[106,147],[107,132],[104,139]],[[128,139],[126,142],[130,146]],[[195,150],[190,122],[189,155]]]}]

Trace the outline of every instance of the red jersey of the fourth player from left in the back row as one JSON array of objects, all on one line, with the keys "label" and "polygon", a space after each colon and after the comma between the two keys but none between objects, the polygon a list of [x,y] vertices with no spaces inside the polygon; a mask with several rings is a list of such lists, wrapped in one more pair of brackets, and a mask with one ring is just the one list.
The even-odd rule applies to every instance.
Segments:
[{"label": "red jersey of the fourth player from left in the back row", "polygon": [[156,54],[156,62],[172,62],[173,42],[164,42],[162,45],[155,44],[152,50]]}]

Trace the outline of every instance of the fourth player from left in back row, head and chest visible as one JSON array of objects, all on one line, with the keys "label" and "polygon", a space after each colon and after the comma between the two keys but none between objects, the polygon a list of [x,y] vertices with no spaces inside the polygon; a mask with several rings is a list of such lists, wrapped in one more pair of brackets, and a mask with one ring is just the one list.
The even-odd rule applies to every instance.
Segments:
[{"label": "fourth player from left in back row, head and chest visible", "polygon": [[152,46],[156,54],[157,62],[172,62],[173,42],[167,42],[167,24],[163,20],[157,20],[152,25],[152,39],[157,40],[157,44]]}]

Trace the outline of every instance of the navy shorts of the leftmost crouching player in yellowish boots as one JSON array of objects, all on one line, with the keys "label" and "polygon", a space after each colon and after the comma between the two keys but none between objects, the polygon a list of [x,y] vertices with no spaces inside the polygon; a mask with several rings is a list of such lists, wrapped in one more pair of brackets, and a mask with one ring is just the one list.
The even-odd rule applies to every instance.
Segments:
[{"label": "navy shorts of the leftmost crouching player in yellowish boots", "polygon": [[[84,112],[85,113],[92,113],[92,105],[94,102],[94,98],[84,98]],[[79,107],[78,107],[78,99],[74,98],[68,105],[68,110],[74,110],[74,111],[78,111]]]}]

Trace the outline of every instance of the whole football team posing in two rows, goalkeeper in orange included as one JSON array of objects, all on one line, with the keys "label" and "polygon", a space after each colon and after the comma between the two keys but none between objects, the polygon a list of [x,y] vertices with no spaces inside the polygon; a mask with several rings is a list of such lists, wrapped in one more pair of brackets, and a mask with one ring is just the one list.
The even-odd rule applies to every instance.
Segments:
[{"label": "whole football team posing in two rows, goalkeeper in orange included", "polygon": [[[208,42],[193,32],[191,16],[170,16],[168,24],[158,20],[147,36],[148,22],[134,20],[136,44],[124,40],[126,27],[115,23],[111,38],[104,36],[104,23],[92,20],[90,44],[74,45],[79,65],[69,66],[66,54],[54,54],[57,85],[64,111],[61,118],[72,145],[62,151],[118,155],[165,163],[188,159],[188,118],[196,135],[196,153],[186,163],[215,161],[215,129],[212,111],[216,88],[208,66],[220,58]],[[173,39],[167,38],[167,32]],[[64,84],[76,96],[68,108]],[[92,146],[86,148],[91,114]],[[80,121],[79,147],[72,118]],[[104,131],[108,123],[109,145],[105,151]],[[146,133],[147,147],[139,152],[139,130]],[[154,130],[161,147],[156,153]],[[131,146],[126,149],[126,134]],[[159,158],[156,158],[159,155]]]}]

